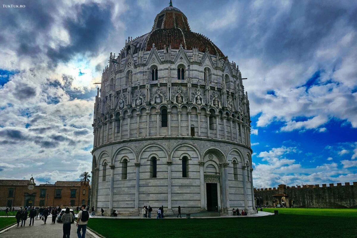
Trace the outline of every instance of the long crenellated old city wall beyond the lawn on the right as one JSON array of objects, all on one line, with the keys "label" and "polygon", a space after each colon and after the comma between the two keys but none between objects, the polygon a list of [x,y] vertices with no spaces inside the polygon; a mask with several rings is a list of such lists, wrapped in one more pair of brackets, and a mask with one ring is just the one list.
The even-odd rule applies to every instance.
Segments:
[{"label": "long crenellated old city wall beyond the lawn on the right", "polygon": [[357,208],[357,182],[254,189],[256,204],[261,206],[274,206],[273,195],[282,193],[288,195],[287,207]]}]

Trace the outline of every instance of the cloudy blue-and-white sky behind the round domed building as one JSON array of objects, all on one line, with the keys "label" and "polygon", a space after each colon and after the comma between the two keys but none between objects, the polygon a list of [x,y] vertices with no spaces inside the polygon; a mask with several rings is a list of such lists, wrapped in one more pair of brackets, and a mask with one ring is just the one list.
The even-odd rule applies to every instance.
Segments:
[{"label": "cloudy blue-and-white sky behind the round domed building", "polygon": [[[248,78],[256,184],[357,181],[357,2],[173,2]],[[77,180],[91,170],[92,83],[169,0],[2,4],[0,178]]]}]

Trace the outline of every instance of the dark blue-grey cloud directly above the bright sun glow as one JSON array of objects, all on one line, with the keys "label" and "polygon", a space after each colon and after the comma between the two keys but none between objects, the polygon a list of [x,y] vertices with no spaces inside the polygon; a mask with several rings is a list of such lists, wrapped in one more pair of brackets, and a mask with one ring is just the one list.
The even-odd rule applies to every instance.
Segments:
[{"label": "dark blue-grey cloud directly above the bright sun glow", "polygon": [[47,51],[47,56],[54,62],[69,61],[76,53],[95,54],[112,27],[110,9],[104,9],[95,3],[76,5],[76,8],[77,19],[68,18],[64,25],[70,35],[71,44]]}]

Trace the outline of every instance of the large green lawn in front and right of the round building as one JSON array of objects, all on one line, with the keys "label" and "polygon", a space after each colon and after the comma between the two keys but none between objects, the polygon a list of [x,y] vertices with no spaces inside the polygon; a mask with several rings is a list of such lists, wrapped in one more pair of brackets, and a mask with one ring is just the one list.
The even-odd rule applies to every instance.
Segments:
[{"label": "large green lawn in front and right of the round building", "polygon": [[[89,219],[106,238],[356,238],[357,209],[280,208],[278,216],[206,219]],[[274,209],[263,209],[273,212]]]}]

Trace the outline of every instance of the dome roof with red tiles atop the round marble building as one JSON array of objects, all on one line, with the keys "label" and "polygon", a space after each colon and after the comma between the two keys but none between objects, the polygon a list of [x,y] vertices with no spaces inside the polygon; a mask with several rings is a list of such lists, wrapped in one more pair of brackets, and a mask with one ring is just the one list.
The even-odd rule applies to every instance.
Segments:
[{"label": "dome roof with red tiles atop the round marble building", "polygon": [[157,50],[163,50],[165,45],[171,45],[171,49],[179,49],[182,44],[186,50],[197,47],[201,52],[208,49],[211,55],[224,56],[211,40],[191,31],[185,14],[173,7],[171,2],[169,7],[156,15],[151,32],[138,37],[132,44],[135,46],[134,54],[139,50],[150,51],[152,44],[155,44]]}]

